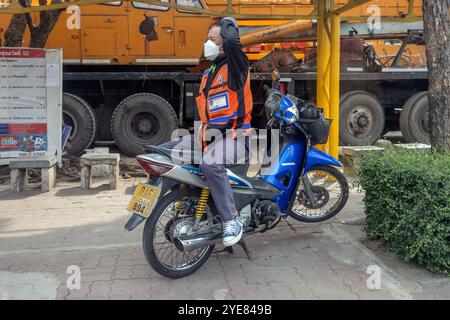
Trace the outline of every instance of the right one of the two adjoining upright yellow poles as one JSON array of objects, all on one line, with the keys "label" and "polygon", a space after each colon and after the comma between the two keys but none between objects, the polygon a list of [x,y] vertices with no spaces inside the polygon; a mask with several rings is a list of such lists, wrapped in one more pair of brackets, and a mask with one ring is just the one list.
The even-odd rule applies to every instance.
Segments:
[{"label": "right one of the two adjoining upright yellow poles", "polygon": [[329,152],[336,159],[339,156],[339,82],[341,51],[341,17],[332,14],[331,23],[331,58],[330,58],[330,118],[333,119],[328,139]]}]

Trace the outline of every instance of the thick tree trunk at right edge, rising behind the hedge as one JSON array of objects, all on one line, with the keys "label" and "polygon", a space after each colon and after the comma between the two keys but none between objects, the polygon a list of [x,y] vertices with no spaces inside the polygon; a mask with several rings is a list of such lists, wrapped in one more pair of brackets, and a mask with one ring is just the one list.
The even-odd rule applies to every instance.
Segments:
[{"label": "thick tree trunk at right edge, rising behind the hedge", "polygon": [[423,1],[428,60],[430,138],[433,149],[450,151],[450,1]]}]

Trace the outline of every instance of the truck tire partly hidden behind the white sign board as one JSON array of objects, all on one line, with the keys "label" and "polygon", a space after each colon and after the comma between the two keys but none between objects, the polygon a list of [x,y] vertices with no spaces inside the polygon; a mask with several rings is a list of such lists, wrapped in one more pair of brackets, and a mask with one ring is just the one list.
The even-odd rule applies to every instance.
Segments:
[{"label": "truck tire partly hidden behind the white sign board", "polygon": [[97,131],[95,112],[89,103],[71,93],[63,93],[63,122],[72,127],[67,153],[78,156],[94,142]]}]

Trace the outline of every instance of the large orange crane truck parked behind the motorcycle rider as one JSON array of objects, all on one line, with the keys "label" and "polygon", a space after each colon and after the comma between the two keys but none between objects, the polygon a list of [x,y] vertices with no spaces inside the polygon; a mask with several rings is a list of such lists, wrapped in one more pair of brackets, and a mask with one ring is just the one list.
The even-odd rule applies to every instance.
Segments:
[{"label": "large orange crane truck parked behind the motorcycle rider", "polygon": [[[337,7],[347,3],[334,1]],[[176,128],[191,127],[200,75],[208,67],[203,43],[213,19],[199,10],[226,9],[239,15],[241,42],[252,63],[253,125],[264,122],[262,87],[273,68],[287,91],[315,100],[315,23],[282,19],[311,14],[313,0],[233,0],[228,7],[225,0],[159,5],[122,0],[69,7],[46,43],[64,50],[63,120],[73,128],[68,152],[79,155],[94,141],[114,141],[135,155],[142,145],[162,143]],[[262,20],[261,14],[274,19]],[[382,20],[376,29],[377,14],[397,20]],[[408,19],[421,15],[421,1],[412,0],[375,0],[343,15],[342,145],[372,144],[399,127],[405,139],[427,141],[422,23]],[[37,21],[39,14],[31,17]],[[10,20],[0,14],[2,43]],[[26,32],[23,46],[28,39]]]}]

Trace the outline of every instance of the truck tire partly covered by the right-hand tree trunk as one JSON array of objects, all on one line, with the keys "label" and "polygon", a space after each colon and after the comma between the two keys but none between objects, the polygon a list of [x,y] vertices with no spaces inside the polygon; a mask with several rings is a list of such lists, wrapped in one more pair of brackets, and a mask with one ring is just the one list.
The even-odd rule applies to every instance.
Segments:
[{"label": "truck tire partly covered by the right-hand tree trunk", "polygon": [[428,120],[428,92],[410,97],[400,113],[400,130],[406,142],[430,144]]}]

